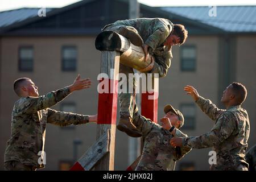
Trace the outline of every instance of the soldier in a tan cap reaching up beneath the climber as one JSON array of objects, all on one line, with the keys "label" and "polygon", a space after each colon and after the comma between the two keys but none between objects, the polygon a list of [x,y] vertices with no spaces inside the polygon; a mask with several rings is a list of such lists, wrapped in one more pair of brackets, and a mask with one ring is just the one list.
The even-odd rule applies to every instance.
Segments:
[{"label": "soldier in a tan cap reaching up beneath the climber", "polygon": [[184,124],[183,114],[171,105],[164,107],[164,113],[166,115],[160,119],[163,126],[160,126],[140,115],[135,105],[133,124],[142,133],[144,141],[142,155],[133,164],[136,171],[174,170],[176,160],[191,150],[188,146],[172,147],[169,142],[174,136],[187,137],[179,130]]}]

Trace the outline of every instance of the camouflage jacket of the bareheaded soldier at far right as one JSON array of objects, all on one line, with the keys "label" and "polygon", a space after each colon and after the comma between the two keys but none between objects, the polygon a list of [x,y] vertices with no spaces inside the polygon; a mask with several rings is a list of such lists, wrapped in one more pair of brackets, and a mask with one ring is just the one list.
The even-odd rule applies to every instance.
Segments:
[{"label": "camouflage jacket of the bareheaded soldier at far right", "polygon": [[245,151],[250,133],[250,123],[247,111],[240,105],[228,110],[218,109],[210,100],[200,97],[196,101],[201,110],[214,121],[209,133],[199,137],[183,138],[183,145],[192,148],[213,147],[217,154],[217,164],[212,164],[212,170],[236,170],[245,162]]}]

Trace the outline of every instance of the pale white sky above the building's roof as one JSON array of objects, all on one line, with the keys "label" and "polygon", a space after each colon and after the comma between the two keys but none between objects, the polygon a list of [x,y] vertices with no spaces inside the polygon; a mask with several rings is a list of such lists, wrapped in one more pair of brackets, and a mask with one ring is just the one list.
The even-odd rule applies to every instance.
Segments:
[{"label": "pale white sky above the building's roof", "polygon": [[[0,11],[18,9],[20,7],[63,7],[77,0],[0,0]],[[138,0],[148,6],[225,6],[256,5],[255,0]]]}]

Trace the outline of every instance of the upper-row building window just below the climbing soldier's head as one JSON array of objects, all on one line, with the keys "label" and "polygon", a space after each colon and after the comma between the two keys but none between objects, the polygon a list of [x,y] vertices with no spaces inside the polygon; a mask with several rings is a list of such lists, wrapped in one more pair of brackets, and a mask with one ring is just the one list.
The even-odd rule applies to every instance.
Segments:
[{"label": "upper-row building window just below the climbing soldier's head", "polygon": [[196,47],[181,47],[181,71],[196,71]]}]

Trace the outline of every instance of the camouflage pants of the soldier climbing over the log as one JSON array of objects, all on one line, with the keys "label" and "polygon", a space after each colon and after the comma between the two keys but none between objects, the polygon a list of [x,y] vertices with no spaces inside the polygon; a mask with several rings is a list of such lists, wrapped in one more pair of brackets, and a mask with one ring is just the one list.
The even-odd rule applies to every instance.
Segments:
[{"label": "camouflage pants of the soldier climbing over the log", "polygon": [[[102,31],[114,31],[119,34],[119,28],[121,27],[129,27],[132,28],[134,31],[138,32],[134,27],[130,26],[123,26],[123,25],[115,25],[115,24],[108,24]],[[122,35],[122,34],[120,34]],[[118,92],[118,100],[120,105],[120,118],[133,118],[133,110],[135,104],[135,90],[137,87],[137,82],[135,78],[133,80],[129,80],[129,73],[134,74],[133,68],[127,67],[126,65],[119,64],[119,73],[124,73],[127,78],[127,90],[126,93],[119,93]],[[120,80],[119,80],[120,81]],[[129,86],[133,86],[133,93],[129,93]]]}]

